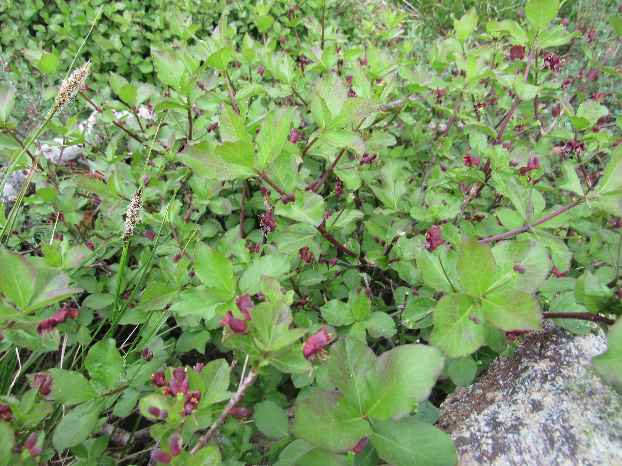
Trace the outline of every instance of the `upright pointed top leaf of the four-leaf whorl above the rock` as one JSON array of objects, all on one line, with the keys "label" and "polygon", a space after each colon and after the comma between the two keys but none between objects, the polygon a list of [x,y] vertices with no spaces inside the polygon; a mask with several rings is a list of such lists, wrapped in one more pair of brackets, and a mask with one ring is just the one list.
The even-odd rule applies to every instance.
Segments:
[{"label": "upright pointed top leaf of the four-leaf whorl above the rock", "polygon": [[490,247],[463,235],[457,272],[465,293],[480,298],[488,290],[495,271],[496,263]]}]

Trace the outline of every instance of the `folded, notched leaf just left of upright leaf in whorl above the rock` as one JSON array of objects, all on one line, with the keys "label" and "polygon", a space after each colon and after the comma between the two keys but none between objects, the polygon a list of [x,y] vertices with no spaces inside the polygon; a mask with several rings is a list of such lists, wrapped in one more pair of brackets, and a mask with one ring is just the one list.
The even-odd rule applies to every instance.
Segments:
[{"label": "folded, notched leaf just left of upright leaf in whorl above the rock", "polygon": [[437,250],[439,257],[427,249],[420,249],[417,252],[417,269],[430,288],[452,293],[458,288],[458,255],[445,245],[439,246]]}]

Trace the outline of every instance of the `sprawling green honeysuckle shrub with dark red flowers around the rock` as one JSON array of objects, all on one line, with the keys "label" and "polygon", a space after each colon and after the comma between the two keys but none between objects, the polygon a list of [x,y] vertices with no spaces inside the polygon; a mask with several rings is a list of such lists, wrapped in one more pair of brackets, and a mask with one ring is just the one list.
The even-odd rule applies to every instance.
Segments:
[{"label": "sprawling green honeysuckle shrub with dark red flowers around the rock", "polygon": [[542,319],[621,386],[622,17],[520,7],[2,6],[0,465],[453,465]]}]

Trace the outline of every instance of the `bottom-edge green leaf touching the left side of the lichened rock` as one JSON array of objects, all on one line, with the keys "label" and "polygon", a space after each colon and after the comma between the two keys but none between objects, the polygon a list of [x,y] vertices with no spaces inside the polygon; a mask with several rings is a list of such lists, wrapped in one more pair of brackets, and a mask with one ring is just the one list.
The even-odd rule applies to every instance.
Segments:
[{"label": "bottom-edge green leaf touching the left side of the lichened rock", "polygon": [[374,423],[371,442],[378,456],[395,466],[453,466],[452,439],[437,427],[414,418]]}]

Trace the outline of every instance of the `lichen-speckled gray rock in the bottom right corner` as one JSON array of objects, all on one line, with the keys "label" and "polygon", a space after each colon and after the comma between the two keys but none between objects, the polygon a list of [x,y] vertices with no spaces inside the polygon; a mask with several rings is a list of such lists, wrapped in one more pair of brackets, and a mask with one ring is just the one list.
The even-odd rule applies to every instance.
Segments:
[{"label": "lichen-speckled gray rock in the bottom right corner", "polygon": [[622,465],[622,395],[590,365],[604,332],[543,326],[440,407],[458,465]]}]

